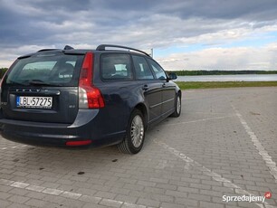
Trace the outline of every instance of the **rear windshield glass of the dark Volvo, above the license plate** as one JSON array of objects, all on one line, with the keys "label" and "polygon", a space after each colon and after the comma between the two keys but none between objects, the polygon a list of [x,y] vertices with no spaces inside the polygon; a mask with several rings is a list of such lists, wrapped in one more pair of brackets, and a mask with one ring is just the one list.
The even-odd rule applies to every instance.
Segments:
[{"label": "rear windshield glass of the dark Volvo, above the license plate", "polygon": [[8,85],[77,86],[83,55],[38,54],[16,61]]}]

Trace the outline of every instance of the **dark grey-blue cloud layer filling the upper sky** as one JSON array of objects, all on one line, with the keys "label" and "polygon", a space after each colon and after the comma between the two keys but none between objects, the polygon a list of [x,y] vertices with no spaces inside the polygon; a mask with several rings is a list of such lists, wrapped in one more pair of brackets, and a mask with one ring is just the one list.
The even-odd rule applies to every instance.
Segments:
[{"label": "dark grey-blue cloud layer filling the upper sky", "polygon": [[220,48],[277,31],[275,0],[0,0],[0,5],[0,67],[34,48],[93,49],[100,43]]}]

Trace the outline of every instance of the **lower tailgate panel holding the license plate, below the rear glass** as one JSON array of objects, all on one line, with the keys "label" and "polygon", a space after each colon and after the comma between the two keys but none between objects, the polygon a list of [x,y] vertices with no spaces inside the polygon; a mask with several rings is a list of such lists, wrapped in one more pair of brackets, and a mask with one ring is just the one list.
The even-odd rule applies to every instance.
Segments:
[{"label": "lower tailgate panel holding the license plate, below the rear glass", "polygon": [[10,88],[2,105],[4,118],[72,123],[78,113],[78,88]]}]

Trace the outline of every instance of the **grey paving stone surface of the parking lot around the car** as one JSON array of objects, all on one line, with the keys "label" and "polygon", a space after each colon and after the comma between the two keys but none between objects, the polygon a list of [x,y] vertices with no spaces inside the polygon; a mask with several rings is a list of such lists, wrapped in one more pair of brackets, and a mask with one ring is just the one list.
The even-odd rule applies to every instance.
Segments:
[{"label": "grey paving stone surface of the parking lot around the car", "polygon": [[0,137],[0,207],[277,207],[276,162],[277,88],[184,90],[135,156]]}]

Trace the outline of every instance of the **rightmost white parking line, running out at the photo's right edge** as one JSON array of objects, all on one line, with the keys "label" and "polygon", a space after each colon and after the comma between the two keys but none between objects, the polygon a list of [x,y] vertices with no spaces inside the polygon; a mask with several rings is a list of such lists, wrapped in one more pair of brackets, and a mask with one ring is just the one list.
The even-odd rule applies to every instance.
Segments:
[{"label": "rightmost white parking line, running out at the photo's right edge", "polygon": [[248,124],[244,120],[243,116],[237,109],[234,108],[234,105],[232,105],[232,108],[234,109],[235,115],[240,119],[240,122],[242,123],[246,133],[249,135],[249,137],[251,137],[253,145],[259,151],[259,155],[263,157],[263,161],[270,169],[271,175],[273,175],[273,177],[275,178],[275,183],[277,183],[277,167],[276,163],[272,160],[272,156],[270,156],[268,152],[265,150],[262,143],[259,141],[258,137],[256,137],[253,130],[248,126]]}]

